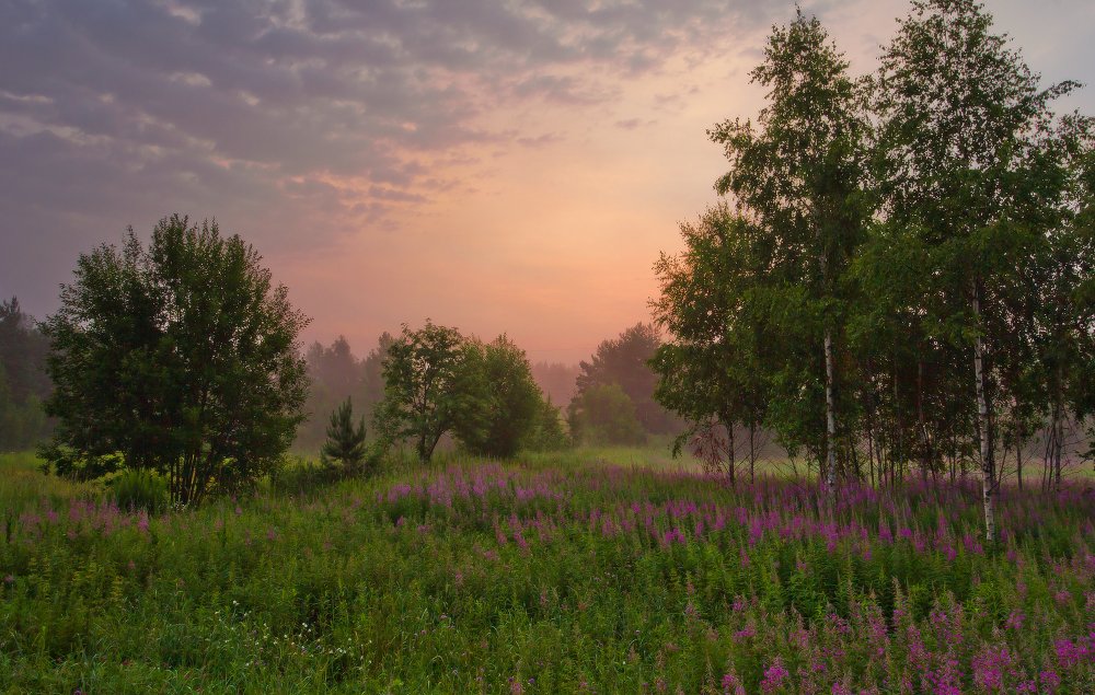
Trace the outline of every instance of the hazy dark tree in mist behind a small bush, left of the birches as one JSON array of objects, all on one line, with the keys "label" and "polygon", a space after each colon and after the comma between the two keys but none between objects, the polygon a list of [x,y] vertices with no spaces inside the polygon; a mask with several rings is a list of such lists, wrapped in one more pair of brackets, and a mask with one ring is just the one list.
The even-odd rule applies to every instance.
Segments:
[{"label": "hazy dark tree in mist behind a small bush, left of the birches", "polygon": [[673,429],[673,420],[655,399],[658,378],[650,370],[649,361],[661,344],[657,329],[650,324],[638,323],[625,329],[618,338],[603,340],[590,361],[578,364],[575,398],[593,385],[619,384],[634,405],[643,428],[653,433]]}]

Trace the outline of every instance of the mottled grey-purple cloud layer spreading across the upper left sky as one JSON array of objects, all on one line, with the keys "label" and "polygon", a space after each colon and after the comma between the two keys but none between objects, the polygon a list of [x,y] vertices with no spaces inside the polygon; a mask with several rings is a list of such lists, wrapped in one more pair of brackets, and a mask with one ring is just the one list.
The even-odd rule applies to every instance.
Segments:
[{"label": "mottled grey-purple cloud layer spreading across the upper left sky", "polygon": [[572,136],[528,114],[611,108],[626,81],[785,10],[0,0],[0,290],[51,309],[77,253],[172,211],[216,215],[278,254],[392,233],[480,188],[492,152]]}]

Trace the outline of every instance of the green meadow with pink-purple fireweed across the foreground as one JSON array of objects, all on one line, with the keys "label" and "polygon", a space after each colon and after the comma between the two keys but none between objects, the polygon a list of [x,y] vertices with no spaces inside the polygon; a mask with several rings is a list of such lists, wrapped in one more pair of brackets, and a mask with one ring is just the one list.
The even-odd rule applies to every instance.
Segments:
[{"label": "green meadow with pink-purple fireweed across the foreground", "polygon": [[1090,693],[1095,490],[448,455],[162,516],[0,455],[10,693]]}]

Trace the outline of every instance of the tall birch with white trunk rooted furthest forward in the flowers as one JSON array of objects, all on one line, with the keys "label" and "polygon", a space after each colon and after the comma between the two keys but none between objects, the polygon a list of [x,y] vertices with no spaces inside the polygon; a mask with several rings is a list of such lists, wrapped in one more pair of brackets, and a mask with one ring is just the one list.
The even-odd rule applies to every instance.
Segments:
[{"label": "tall birch with white trunk rooted furthest forward in the flowers", "polygon": [[[875,157],[887,223],[929,256],[924,304],[933,335],[972,368],[986,536],[995,537],[993,378],[1007,349],[990,341],[1004,288],[1030,256],[1025,234],[1040,193],[1038,140],[1050,102],[1075,84],[1038,89],[973,0],[915,0],[875,80]],[[1044,172],[1041,172],[1044,173]]]}]

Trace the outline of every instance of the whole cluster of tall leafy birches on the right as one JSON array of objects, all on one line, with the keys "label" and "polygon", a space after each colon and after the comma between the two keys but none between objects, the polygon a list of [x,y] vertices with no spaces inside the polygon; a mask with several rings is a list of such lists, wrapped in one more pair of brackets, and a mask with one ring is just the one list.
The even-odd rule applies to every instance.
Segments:
[{"label": "whole cluster of tall leafy birches on the right", "polygon": [[1051,108],[1077,85],[1040,88],[972,0],[914,1],[869,79],[798,12],[751,77],[757,120],[708,132],[735,207],[655,266],[678,445],[759,426],[872,483],[980,467],[991,498],[1040,438],[1060,484],[1095,413],[1095,126]]}]

